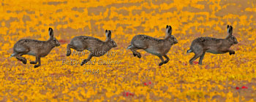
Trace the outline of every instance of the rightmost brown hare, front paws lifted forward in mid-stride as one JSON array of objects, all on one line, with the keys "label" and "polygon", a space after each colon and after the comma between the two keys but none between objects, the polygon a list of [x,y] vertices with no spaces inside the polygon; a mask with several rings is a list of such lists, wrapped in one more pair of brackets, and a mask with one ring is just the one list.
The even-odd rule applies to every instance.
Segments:
[{"label": "rightmost brown hare, front paws lifted forward in mid-stride", "polygon": [[190,46],[190,50],[187,50],[187,53],[195,53],[195,56],[189,60],[189,63],[192,64],[194,60],[200,57],[199,64],[202,65],[203,56],[206,52],[211,52],[213,54],[230,52],[230,55],[235,54],[235,51],[230,50],[230,47],[233,44],[238,44],[236,37],[232,35],[232,26],[227,25],[227,34],[228,35],[225,39],[216,39],[211,37],[199,37],[195,39]]}]

